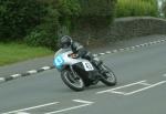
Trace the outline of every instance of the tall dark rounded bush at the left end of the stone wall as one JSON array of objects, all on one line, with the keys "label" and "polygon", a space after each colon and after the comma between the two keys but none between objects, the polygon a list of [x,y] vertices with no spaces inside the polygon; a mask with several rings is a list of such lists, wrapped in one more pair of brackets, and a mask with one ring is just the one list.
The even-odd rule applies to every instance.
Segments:
[{"label": "tall dark rounded bush at the left end of the stone wall", "polygon": [[86,29],[87,45],[92,35],[95,35],[91,31],[97,32],[111,24],[115,14],[115,4],[116,0],[80,0],[81,13],[76,24]]}]

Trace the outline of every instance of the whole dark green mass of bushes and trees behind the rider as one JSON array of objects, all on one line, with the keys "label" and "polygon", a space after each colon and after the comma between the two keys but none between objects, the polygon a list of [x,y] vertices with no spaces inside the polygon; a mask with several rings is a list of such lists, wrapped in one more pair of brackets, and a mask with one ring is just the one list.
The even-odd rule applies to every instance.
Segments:
[{"label": "whole dark green mass of bushes and trees behind the rider", "polygon": [[115,3],[116,0],[0,0],[0,41],[24,38],[30,45],[55,49],[63,27],[72,32],[79,23],[93,29],[108,25]]}]

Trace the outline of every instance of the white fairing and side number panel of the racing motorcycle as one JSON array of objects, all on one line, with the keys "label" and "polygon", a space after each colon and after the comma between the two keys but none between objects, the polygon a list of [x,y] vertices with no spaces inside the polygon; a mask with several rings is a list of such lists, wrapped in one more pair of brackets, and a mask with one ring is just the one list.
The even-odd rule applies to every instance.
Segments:
[{"label": "white fairing and side number panel of the racing motorcycle", "polygon": [[55,54],[54,58],[61,55],[61,58],[63,59],[63,65],[73,65],[73,64],[76,64],[76,63],[82,63],[85,71],[93,71],[94,70],[91,62],[89,62],[85,59],[81,59],[81,58],[72,59],[72,58],[69,56],[69,54],[71,54],[71,53],[73,53],[71,50],[60,50]]}]

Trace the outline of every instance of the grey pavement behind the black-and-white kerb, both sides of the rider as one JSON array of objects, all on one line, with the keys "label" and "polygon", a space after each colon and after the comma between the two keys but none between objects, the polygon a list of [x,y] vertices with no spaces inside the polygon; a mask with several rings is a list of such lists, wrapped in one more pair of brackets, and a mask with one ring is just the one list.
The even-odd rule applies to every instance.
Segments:
[{"label": "grey pavement behind the black-and-white kerb, both sides of the rider", "polygon": [[[131,40],[118,41],[116,43],[107,43],[105,44],[105,46],[98,45],[95,49],[90,49],[90,51],[92,51],[93,53],[102,53],[106,51],[129,48],[129,46],[143,44],[151,41],[163,40],[163,39],[166,39],[166,35],[156,34],[156,35],[141,37]],[[10,65],[0,66],[0,77],[9,77],[10,75],[13,74],[22,74],[22,73],[27,74],[28,71],[34,71],[34,70],[38,71],[41,70],[42,68],[52,66],[53,58],[54,55],[49,55],[44,58],[37,58],[37,59],[18,62]]]}]

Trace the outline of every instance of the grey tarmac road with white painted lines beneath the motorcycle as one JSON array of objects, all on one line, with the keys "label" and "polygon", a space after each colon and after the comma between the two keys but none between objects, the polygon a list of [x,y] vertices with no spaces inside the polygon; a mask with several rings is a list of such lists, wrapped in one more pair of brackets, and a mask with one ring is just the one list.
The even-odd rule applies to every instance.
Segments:
[{"label": "grey tarmac road with white painted lines beneath the motorcycle", "polygon": [[101,56],[117,76],[83,92],[55,70],[0,85],[0,114],[165,114],[166,43]]}]

